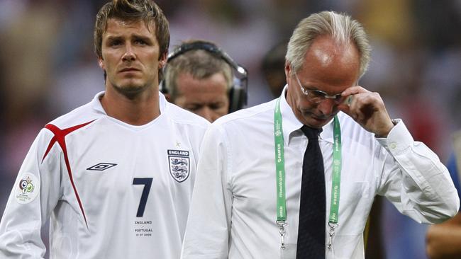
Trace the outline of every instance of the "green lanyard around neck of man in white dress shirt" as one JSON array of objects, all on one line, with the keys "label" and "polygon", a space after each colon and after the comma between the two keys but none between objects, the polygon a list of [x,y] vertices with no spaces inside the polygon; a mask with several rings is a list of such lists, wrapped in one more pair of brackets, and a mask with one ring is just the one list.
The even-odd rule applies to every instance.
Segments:
[{"label": "green lanyard around neck of man in white dress shirt", "polygon": [[[331,248],[331,241],[335,234],[335,228],[338,226],[338,211],[341,182],[341,128],[338,116],[333,120],[333,180],[331,183],[331,207],[328,226],[330,236],[328,248]],[[277,99],[274,109],[274,144],[275,144],[275,169],[277,180],[277,225],[279,226],[280,247],[285,248],[284,235],[285,226],[287,225],[287,198],[285,192],[285,158],[282,113],[280,112],[280,98]]]}]

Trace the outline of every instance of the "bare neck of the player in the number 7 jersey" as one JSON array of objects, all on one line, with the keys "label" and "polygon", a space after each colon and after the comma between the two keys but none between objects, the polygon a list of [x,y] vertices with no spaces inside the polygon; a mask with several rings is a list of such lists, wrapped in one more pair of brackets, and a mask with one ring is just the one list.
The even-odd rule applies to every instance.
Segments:
[{"label": "bare neck of the player in the number 7 jersey", "polygon": [[129,125],[145,125],[160,116],[159,93],[154,88],[128,98],[113,87],[106,86],[101,105],[107,115]]}]

